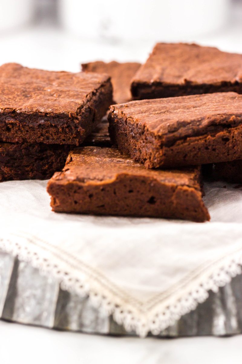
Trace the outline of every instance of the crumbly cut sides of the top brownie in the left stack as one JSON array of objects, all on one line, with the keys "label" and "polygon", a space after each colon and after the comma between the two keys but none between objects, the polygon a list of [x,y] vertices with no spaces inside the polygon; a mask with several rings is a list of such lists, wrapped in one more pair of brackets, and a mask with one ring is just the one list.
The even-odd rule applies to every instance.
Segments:
[{"label": "crumbly cut sides of the top brownie in the left stack", "polygon": [[[112,84],[107,77],[106,82],[87,95],[77,112],[69,115],[1,112],[0,139],[13,143],[79,145],[105,115],[111,103]],[[44,122],[49,123],[48,127]]]}]

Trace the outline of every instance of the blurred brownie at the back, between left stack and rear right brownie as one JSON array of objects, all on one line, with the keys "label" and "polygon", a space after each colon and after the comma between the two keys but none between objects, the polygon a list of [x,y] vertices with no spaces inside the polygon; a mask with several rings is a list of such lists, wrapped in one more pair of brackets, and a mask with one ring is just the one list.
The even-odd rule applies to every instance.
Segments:
[{"label": "blurred brownie at the back, between left stack and rear right brownie", "polygon": [[141,64],[137,62],[109,62],[102,61],[82,64],[82,70],[88,72],[106,73],[111,76],[114,88],[114,103],[123,103],[131,100],[130,84],[131,79]]}]

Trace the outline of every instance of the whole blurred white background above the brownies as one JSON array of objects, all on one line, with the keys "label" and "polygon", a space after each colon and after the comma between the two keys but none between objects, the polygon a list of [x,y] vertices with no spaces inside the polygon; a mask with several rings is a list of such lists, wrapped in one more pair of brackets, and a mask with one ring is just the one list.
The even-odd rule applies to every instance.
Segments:
[{"label": "whole blurred white background above the brownies", "polygon": [[242,0],[0,0],[0,63],[144,62],[156,41],[242,53]]}]

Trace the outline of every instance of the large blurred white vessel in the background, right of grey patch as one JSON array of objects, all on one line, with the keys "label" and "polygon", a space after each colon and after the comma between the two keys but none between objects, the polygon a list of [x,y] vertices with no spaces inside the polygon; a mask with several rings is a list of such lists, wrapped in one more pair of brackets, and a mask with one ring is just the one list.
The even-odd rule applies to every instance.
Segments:
[{"label": "large blurred white vessel in the background, right of grey patch", "polygon": [[177,40],[221,29],[230,0],[60,0],[60,23],[89,39]]}]

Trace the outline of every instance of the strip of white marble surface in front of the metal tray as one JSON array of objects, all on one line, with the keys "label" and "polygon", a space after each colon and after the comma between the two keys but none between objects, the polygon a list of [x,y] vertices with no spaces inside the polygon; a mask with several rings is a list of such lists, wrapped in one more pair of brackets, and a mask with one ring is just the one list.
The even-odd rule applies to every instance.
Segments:
[{"label": "strip of white marble surface in front of the metal tray", "polygon": [[4,364],[240,364],[242,336],[138,339],[61,332],[0,321]]}]

